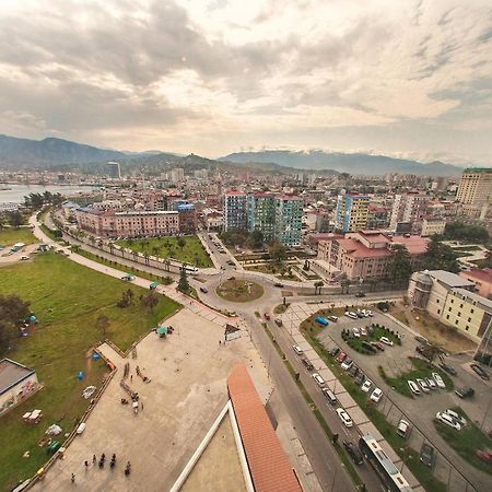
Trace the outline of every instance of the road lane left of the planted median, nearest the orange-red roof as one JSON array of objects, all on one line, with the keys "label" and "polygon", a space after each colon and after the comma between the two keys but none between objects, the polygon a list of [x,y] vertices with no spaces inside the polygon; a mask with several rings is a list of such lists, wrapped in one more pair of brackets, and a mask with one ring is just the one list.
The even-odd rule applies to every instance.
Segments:
[{"label": "road lane left of the planted median, nearest the orange-red roof", "polygon": [[[251,327],[255,345],[266,364],[268,364],[269,374],[289,411],[292,423],[323,490],[355,491],[352,479],[341,466],[319,422],[305,402],[297,385],[277,353],[260,321],[249,313],[243,313],[243,316]],[[336,487],[333,488],[333,485]]]}]

